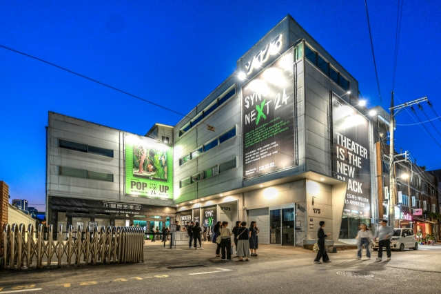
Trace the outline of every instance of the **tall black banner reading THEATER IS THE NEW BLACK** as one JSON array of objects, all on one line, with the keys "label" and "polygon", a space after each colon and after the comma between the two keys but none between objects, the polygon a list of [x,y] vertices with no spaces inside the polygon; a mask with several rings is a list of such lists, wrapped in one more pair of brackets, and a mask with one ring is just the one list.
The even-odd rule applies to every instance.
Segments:
[{"label": "tall black banner reading THEATER IS THE NEW BLACK", "polygon": [[369,121],[335,94],[332,98],[334,177],[347,182],[346,215],[371,215]]}]

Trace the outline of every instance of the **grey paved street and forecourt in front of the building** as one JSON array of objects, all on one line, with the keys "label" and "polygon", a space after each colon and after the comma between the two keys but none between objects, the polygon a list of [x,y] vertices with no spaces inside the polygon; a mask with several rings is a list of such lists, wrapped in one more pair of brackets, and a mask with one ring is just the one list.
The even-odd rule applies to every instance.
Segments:
[{"label": "grey paved street and forecourt in front of the building", "polygon": [[[214,244],[204,250],[145,246],[143,264],[0,272],[0,293],[439,293],[441,246],[393,251],[391,262],[357,261],[356,251],[314,264],[302,248],[260,246],[250,262],[222,262]],[[199,266],[177,268],[177,266]],[[338,272],[372,277],[349,277]]]}]

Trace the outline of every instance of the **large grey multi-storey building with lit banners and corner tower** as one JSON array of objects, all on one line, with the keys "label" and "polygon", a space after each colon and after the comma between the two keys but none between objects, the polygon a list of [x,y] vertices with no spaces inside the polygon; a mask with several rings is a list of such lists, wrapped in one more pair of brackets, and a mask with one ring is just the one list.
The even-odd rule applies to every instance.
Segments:
[{"label": "large grey multi-storey building with lit banners and corner tower", "polygon": [[303,246],[322,220],[334,242],[378,220],[375,126],[358,81],[290,15],[236,66],[176,126],[145,137],[50,112],[50,223],[240,219],[257,222],[260,243]]}]

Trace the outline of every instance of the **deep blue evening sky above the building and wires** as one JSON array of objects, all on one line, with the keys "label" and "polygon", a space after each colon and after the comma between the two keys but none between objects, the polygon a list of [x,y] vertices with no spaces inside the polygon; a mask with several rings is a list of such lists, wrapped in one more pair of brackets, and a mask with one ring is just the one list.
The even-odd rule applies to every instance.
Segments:
[{"label": "deep blue evening sky above the building and wires", "polygon": [[[398,0],[368,0],[383,106],[392,89]],[[0,45],[45,59],[187,113],[236,61],[291,14],[380,104],[365,3],[358,1],[1,1]],[[441,6],[404,1],[396,97],[428,96],[441,115]],[[144,135],[181,117],[0,48],[0,179],[12,198],[45,203],[48,111]],[[430,118],[434,112],[423,104]],[[422,121],[427,118],[418,112]],[[414,124],[403,112],[398,124]],[[441,132],[441,121],[433,124]],[[441,144],[441,136],[425,124]],[[398,126],[396,147],[441,168],[441,147],[420,125]]]}]

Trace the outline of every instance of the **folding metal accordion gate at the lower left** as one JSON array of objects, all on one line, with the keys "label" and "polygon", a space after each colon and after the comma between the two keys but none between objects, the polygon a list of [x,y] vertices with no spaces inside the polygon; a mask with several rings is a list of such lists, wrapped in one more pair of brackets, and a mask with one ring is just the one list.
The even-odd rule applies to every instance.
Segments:
[{"label": "folding metal accordion gate at the lower left", "polygon": [[[3,227],[3,264],[1,268],[43,268],[57,264],[76,266],[88,264],[110,264],[144,262],[144,231],[136,227],[87,226],[85,238],[72,237],[73,227],[68,226],[68,239],[62,240],[60,225],[57,240],[53,239],[52,225],[48,228],[48,240],[44,240],[43,225],[34,235],[34,226],[25,230],[24,224],[5,224]],[[77,229],[81,236],[81,226]],[[52,260],[54,262],[52,262]]]}]

